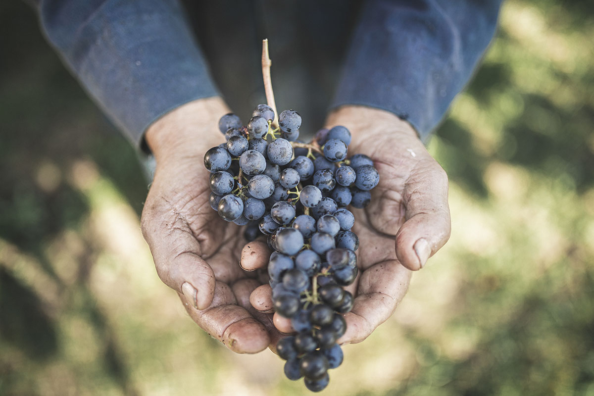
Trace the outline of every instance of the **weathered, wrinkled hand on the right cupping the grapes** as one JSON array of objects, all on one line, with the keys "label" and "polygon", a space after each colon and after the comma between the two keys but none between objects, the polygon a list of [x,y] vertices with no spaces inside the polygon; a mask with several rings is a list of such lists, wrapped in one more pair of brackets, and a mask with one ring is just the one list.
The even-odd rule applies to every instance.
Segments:
[{"label": "weathered, wrinkled hand on the right cupping the grapes", "polygon": [[[371,204],[352,209],[353,232],[361,242],[356,252],[359,275],[346,288],[355,300],[338,342],[358,343],[394,313],[406,293],[409,270],[422,268],[450,236],[448,180],[409,123],[391,113],[343,106],[328,118],[327,126],[334,125],[352,133],[349,156],[368,155],[380,173]],[[270,297],[263,297],[267,292],[270,287],[261,286],[252,294],[254,307],[263,312],[270,305]],[[279,315],[274,315],[274,324],[282,332],[292,330],[290,321]]]}]

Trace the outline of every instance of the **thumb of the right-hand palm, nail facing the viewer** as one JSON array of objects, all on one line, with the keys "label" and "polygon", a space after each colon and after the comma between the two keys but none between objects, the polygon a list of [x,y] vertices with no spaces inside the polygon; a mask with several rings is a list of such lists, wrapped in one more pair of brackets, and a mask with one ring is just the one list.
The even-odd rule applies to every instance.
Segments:
[{"label": "thumb of the right-hand palm, nail facing the viewer", "polygon": [[409,270],[420,270],[447,242],[451,232],[448,180],[437,164],[417,170],[403,194],[406,221],[396,234],[396,256]]}]

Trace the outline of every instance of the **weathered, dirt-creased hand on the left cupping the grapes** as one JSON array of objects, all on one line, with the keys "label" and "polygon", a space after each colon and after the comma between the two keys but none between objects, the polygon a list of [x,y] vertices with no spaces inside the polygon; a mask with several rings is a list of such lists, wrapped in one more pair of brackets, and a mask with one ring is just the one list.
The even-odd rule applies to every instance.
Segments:
[{"label": "weathered, dirt-creased hand on the left cupping the grapes", "polygon": [[219,98],[202,99],[151,125],[146,140],[157,167],[141,224],[157,274],[178,292],[192,319],[229,349],[255,353],[277,332],[271,315],[249,303],[261,282],[239,262],[250,267],[250,261],[262,259],[257,249],[240,257],[246,243],[242,229],[210,207],[210,174],[203,162],[209,148],[225,142],[216,125],[228,112]]}]

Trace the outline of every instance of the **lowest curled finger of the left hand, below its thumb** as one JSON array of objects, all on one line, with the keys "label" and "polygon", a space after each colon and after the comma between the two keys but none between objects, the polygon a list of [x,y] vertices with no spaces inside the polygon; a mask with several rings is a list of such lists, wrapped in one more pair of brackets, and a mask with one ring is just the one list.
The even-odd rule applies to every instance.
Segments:
[{"label": "lowest curled finger of the left hand, below its thumb", "polygon": [[[240,293],[245,303],[245,294]],[[270,345],[266,326],[254,318],[245,308],[237,305],[238,300],[232,289],[225,283],[217,282],[211,306],[203,311],[194,309],[181,294],[186,311],[208,334],[225,344],[236,353],[257,353]]]}]

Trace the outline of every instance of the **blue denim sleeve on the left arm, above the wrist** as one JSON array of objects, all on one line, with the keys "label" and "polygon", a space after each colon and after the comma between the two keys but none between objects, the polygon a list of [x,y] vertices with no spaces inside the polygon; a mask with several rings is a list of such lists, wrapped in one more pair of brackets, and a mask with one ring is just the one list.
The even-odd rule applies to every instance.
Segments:
[{"label": "blue denim sleeve on the left arm, above the wrist", "polygon": [[41,0],[49,42],[138,145],[157,118],[218,94],[176,0]]}]

